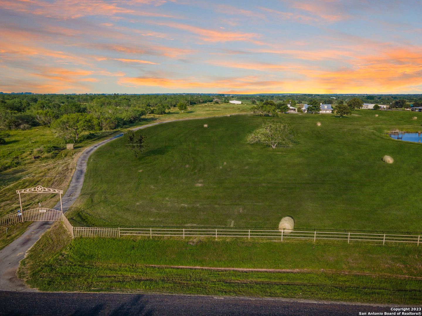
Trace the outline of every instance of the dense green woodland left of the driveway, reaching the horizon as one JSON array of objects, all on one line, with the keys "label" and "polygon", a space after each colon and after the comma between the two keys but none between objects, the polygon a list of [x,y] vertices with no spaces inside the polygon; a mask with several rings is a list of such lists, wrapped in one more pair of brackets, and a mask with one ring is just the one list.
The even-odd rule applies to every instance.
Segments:
[{"label": "dense green woodland left of the driveway, reaching the horizon", "polygon": [[25,95],[0,94],[0,129],[51,127],[65,142],[84,131],[110,131],[141,121],[146,114],[184,111],[212,102],[207,95]]}]

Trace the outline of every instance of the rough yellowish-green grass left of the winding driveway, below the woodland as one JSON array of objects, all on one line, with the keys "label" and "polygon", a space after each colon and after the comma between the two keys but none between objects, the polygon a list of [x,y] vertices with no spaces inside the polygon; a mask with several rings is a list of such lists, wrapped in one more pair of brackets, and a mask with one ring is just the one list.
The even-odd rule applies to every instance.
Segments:
[{"label": "rough yellowish-green grass left of the winding driveway, below the woodland", "polygon": [[[118,131],[101,131],[90,138],[88,133],[81,135],[81,140],[75,145],[75,150],[56,150],[46,153],[39,150],[45,145],[62,145],[62,139],[57,139],[47,127],[33,127],[31,129],[3,131],[1,134],[6,139],[5,145],[0,146],[0,217],[16,212],[20,208],[16,190],[25,187],[42,185],[66,190],[73,174],[76,160],[87,145],[101,141],[115,134],[122,133],[135,126],[149,123],[176,120],[181,118],[206,117],[214,115],[227,115],[237,112],[249,112],[250,105],[246,104],[200,104],[191,107],[184,113],[173,108],[164,115],[147,115],[142,121],[126,126]],[[61,146],[63,148],[63,146]],[[32,156],[41,156],[34,160]],[[24,194],[22,206],[24,209],[37,207],[54,207],[59,201],[57,194]],[[13,236],[6,238],[5,229],[0,233],[0,249],[10,244],[20,236],[29,223],[16,225],[9,231],[15,231]],[[3,236],[4,235],[4,236]]]}]

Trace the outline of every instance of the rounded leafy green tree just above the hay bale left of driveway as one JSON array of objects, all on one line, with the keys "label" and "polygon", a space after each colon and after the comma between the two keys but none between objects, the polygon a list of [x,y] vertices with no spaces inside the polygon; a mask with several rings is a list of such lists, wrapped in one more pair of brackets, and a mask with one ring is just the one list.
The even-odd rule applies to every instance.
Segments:
[{"label": "rounded leafy green tree just above the hay bale left of driveway", "polygon": [[83,131],[99,131],[100,121],[92,114],[70,113],[55,120],[51,124],[51,129],[56,137],[61,137],[65,141],[72,139],[76,142]]}]

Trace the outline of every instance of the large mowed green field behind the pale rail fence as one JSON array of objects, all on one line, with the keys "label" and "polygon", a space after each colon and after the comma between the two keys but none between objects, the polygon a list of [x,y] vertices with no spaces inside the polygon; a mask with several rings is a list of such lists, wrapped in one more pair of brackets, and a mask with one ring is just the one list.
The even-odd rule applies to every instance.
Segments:
[{"label": "large mowed green field behind the pale rail fence", "polygon": [[[341,119],[234,115],[152,126],[139,159],[123,138],[91,155],[70,217],[92,226],[276,228],[291,215],[295,228],[420,232],[422,145],[384,134],[422,129],[412,116],[356,110]],[[295,145],[248,145],[262,120],[290,123]]]}]

